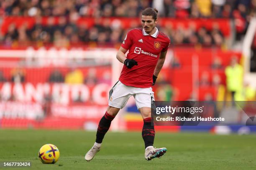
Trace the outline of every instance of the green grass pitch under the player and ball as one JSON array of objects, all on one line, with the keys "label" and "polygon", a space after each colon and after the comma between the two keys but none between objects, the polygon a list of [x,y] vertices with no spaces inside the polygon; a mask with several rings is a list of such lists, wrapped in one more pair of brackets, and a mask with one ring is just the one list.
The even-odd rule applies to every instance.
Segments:
[{"label": "green grass pitch under the player and ball", "polygon": [[[28,170],[250,170],[256,168],[256,135],[156,133],[155,147],[166,147],[161,159],[144,159],[141,132],[107,133],[96,157],[87,162],[95,132],[0,130],[0,162],[31,161]],[[51,143],[60,150],[55,164],[42,164],[38,150]],[[0,169],[13,169],[3,168]],[[18,170],[17,169],[17,170]]]}]

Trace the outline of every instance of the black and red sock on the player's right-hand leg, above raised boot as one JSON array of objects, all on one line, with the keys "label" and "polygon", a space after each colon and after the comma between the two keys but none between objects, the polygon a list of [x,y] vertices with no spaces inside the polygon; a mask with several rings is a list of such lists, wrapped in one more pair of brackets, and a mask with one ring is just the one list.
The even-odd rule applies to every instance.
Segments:
[{"label": "black and red sock on the player's right-hand leg, above raised boot", "polygon": [[154,125],[151,125],[151,117],[143,119],[142,138],[145,143],[145,148],[153,146],[155,139]]}]

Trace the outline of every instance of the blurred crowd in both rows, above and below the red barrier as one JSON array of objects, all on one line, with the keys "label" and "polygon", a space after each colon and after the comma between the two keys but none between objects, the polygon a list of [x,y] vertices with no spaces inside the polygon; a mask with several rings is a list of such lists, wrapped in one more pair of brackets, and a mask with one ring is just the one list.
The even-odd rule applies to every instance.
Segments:
[{"label": "blurred crowd in both rows, above and below the red barrier", "polygon": [[[256,0],[2,0],[1,16],[28,16],[35,18],[33,28],[26,24],[17,28],[15,24],[0,35],[4,45],[12,46],[16,42],[30,45],[54,43],[56,46],[69,46],[84,42],[97,42],[98,45],[116,45],[123,41],[128,30],[140,27],[138,23],[131,28],[111,26],[106,17],[138,17],[142,9],[156,7],[159,15],[171,18],[235,18],[238,34],[243,34],[256,9]],[[42,17],[47,16],[47,24],[42,25]],[[58,16],[57,24],[54,17]],[[79,17],[94,17],[95,24],[77,25]],[[171,39],[172,44],[223,45],[226,42],[219,25],[212,30],[197,28],[190,24],[188,28],[172,24],[160,28]],[[29,44],[30,43],[30,44]]]}]

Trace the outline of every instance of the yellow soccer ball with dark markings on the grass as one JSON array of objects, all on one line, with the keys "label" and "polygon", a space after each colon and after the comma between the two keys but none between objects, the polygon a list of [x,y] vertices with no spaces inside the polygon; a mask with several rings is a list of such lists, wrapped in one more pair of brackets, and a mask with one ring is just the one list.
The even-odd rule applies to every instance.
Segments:
[{"label": "yellow soccer ball with dark markings on the grass", "polygon": [[56,163],[59,160],[59,149],[52,144],[45,144],[39,150],[38,157],[42,163]]}]

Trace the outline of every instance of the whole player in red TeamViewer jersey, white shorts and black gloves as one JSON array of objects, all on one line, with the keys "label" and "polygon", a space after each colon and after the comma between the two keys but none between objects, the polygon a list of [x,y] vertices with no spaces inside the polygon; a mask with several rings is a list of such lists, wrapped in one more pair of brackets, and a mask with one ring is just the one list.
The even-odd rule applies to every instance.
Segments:
[{"label": "whole player in red TeamViewer jersey, white shorts and black gloves", "polygon": [[[156,28],[157,10],[146,8],[142,12],[142,28],[130,30],[117,52],[117,59],[124,63],[119,81],[110,90],[108,108],[99,122],[96,141],[85,155],[90,161],[100,151],[104,135],[111,121],[133,96],[143,118],[142,138],[145,143],[145,159],[160,158],[166,148],[154,148],[155,130],[151,122],[151,100],[154,100],[152,85],[164,65],[170,39]],[[129,50],[127,57],[125,53]]]}]

